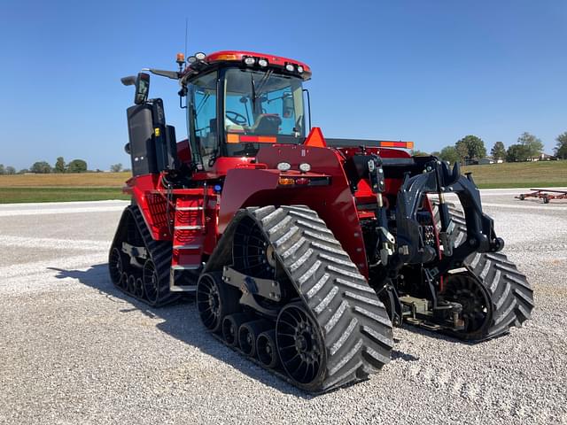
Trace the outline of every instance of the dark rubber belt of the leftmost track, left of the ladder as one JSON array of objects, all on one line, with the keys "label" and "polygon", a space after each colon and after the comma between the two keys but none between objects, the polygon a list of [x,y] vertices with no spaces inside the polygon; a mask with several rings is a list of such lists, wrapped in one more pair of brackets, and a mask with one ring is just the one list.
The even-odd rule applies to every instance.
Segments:
[{"label": "dark rubber belt of the leftmost track, left of the ladder", "polygon": [[[137,205],[129,205],[126,207],[126,210],[131,213],[132,218],[136,223],[136,228],[142,236],[142,240],[144,241],[144,247],[146,251],[150,254],[150,258],[155,265],[158,275],[159,275],[159,298],[158,301],[155,303],[151,303],[144,294],[144,298],[136,297],[136,295],[132,294],[131,292],[122,290],[118,288],[129,297],[133,297],[143,301],[145,304],[151,305],[153,307],[160,307],[162,305],[171,304],[177,299],[180,298],[178,294],[174,294],[169,291],[169,270],[171,268],[171,258],[172,258],[172,250],[173,246],[171,242],[168,241],[156,241],[151,237],[151,233],[148,230],[144,217],[140,212],[140,209]],[[126,211],[124,212],[126,213]],[[121,223],[121,220],[120,220]],[[121,243],[120,243],[121,245]],[[113,244],[114,247],[114,244]],[[119,246],[119,249],[121,246]],[[142,277],[143,269],[140,270],[140,277]]]}]

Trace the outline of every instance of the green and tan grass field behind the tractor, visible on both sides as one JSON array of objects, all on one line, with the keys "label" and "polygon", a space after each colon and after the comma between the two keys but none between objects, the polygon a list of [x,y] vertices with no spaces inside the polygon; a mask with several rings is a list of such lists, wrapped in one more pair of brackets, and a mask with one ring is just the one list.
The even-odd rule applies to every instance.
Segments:
[{"label": "green and tan grass field behind the tractor, visible on both sides", "polygon": [[[567,186],[567,161],[462,167],[480,189]],[[0,204],[128,199],[121,191],[129,173],[0,175]]]}]

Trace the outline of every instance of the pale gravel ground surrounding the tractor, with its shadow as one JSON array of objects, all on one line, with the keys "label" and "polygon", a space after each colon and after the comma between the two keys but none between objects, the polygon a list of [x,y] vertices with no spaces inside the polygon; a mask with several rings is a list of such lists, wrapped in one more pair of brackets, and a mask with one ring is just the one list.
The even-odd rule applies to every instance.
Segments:
[{"label": "pale gravel ground surrounding the tractor, with its shadow", "polygon": [[482,344],[397,328],[381,372],[318,397],[208,336],[192,303],[113,289],[126,203],[0,205],[0,422],[567,423],[567,203],[515,193],[483,200],[535,289],[532,321]]}]

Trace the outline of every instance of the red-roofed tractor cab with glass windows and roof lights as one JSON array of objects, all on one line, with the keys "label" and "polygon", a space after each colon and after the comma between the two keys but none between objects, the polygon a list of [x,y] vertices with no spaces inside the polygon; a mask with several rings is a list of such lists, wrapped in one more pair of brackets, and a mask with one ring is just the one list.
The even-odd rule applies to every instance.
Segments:
[{"label": "red-roofed tractor cab with glass windows and roof lights", "polygon": [[308,120],[302,83],[311,75],[306,65],[243,51],[189,60],[180,95],[186,96],[198,171],[222,174],[220,168],[249,162],[261,143],[303,143]]}]

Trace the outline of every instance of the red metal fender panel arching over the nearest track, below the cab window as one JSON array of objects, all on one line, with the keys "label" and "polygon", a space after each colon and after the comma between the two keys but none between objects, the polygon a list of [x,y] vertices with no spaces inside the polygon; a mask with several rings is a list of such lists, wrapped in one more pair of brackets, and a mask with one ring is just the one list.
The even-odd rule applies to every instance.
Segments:
[{"label": "red metal fender panel arching over the nearest track, below the cab window", "polygon": [[[269,169],[235,169],[227,174],[221,197],[219,232],[232,219],[238,209],[245,206],[307,205],[327,223],[361,273],[368,276],[364,240],[354,197],[337,151],[302,145],[264,146],[257,160]],[[279,162],[288,162],[292,170],[307,162],[313,174],[330,176],[329,186],[278,188]]]}]

